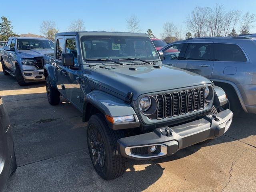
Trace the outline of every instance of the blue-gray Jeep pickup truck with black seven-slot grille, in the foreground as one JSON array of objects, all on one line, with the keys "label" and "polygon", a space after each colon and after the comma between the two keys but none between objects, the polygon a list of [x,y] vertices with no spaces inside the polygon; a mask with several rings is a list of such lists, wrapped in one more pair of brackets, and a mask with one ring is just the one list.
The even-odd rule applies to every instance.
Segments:
[{"label": "blue-gray Jeep pickup truck with black seven-slot grille, in the foreground", "polygon": [[172,155],[224,134],[232,122],[221,107],[225,92],[162,65],[146,34],[58,33],[43,65],[49,103],[63,96],[82,112],[92,163],[106,180],[124,173],[127,158]]}]

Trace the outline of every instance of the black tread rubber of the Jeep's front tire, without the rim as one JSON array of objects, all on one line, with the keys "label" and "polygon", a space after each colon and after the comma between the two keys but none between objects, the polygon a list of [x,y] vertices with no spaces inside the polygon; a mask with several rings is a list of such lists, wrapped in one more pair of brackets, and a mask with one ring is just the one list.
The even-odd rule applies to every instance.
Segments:
[{"label": "black tread rubber of the Jeep's front tire, without the rim", "polygon": [[[88,133],[91,129],[95,129],[100,133],[102,137],[104,149],[105,149],[105,162],[104,166],[98,168],[93,161],[92,147],[91,147],[91,135]],[[124,137],[122,130],[112,130],[108,127],[106,120],[102,114],[94,114],[90,117],[87,125],[87,144],[92,164],[96,172],[104,180],[112,180],[121,176],[127,165],[127,159],[121,156],[117,150],[116,142],[119,138]]]}]

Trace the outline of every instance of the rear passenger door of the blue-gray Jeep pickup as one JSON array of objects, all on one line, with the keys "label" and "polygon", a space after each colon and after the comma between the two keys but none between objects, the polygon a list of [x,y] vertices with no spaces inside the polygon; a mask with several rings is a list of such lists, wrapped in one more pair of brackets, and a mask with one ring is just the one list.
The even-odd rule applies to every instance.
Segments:
[{"label": "rear passenger door of the blue-gray Jeep pickup", "polygon": [[63,47],[64,47],[64,38],[58,37],[56,39],[56,49],[55,49],[55,61],[53,63],[55,67],[55,74],[56,74],[56,84],[59,92],[65,96],[65,88],[62,86],[63,84],[63,70],[64,66],[62,66],[62,53],[63,53]]}]

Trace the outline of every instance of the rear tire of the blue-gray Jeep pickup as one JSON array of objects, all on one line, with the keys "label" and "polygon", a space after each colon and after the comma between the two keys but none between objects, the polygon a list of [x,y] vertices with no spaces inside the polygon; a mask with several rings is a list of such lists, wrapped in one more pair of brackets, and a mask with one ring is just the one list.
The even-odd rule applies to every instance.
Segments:
[{"label": "rear tire of the blue-gray Jeep pickup", "polygon": [[51,105],[58,105],[60,103],[60,92],[51,86],[49,77],[46,77],[45,84],[48,102]]}]

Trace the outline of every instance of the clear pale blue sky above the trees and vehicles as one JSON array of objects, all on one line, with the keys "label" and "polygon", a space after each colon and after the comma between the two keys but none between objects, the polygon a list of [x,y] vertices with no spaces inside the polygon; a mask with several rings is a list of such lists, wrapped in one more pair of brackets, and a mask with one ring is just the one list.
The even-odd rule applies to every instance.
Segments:
[{"label": "clear pale blue sky above the trees and vehicles", "polygon": [[[70,22],[78,18],[84,20],[86,30],[128,31],[125,18],[135,14],[140,20],[140,32],[150,28],[160,38],[164,22],[184,26],[186,15],[195,6],[213,7],[217,3],[224,4],[226,10],[256,14],[256,0],[17,0],[12,4],[1,0],[0,16],[12,21],[17,34],[39,35],[43,20],[53,20],[60,32],[64,32]],[[186,27],[183,29],[186,34]],[[252,32],[256,32],[256,27]]]}]

